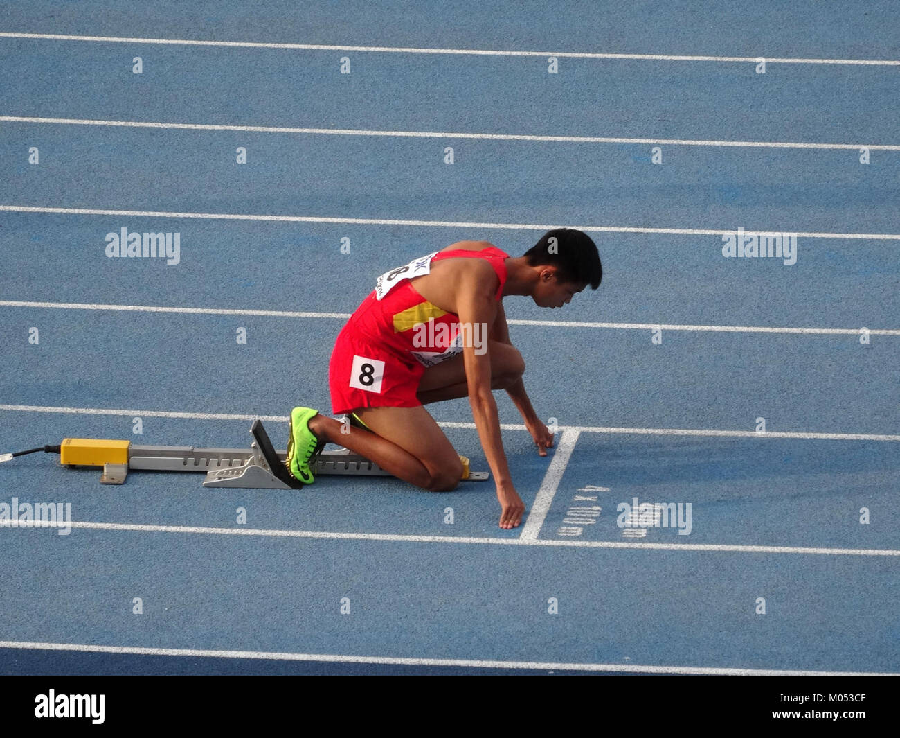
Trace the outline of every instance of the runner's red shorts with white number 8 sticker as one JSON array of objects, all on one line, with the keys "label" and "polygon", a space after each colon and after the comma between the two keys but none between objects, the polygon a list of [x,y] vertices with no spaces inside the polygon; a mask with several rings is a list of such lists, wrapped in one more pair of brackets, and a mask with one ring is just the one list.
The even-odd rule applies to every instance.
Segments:
[{"label": "runner's red shorts with white number 8 sticker", "polygon": [[331,412],[360,407],[418,407],[425,367],[411,356],[360,335],[349,324],[338,333],[329,364]]}]

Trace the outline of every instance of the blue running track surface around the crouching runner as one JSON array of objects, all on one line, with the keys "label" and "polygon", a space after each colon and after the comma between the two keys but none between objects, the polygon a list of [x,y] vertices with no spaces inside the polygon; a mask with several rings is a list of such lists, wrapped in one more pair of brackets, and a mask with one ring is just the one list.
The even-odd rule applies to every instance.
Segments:
[{"label": "blue running track surface around the crouching runner", "polygon": [[[0,503],[69,502],[83,525],[0,529],[0,673],[900,672],[900,151],[878,149],[900,144],[900,70],[560,56],[547,73],[570,51],[896,59],[894,4],[862,8],[0,3],[6,33],[345,47],[0,37],[0,451],[245,446],[256,416],[284,447],[293,405],[329,411],[340,315],[383,271],[466,238],[518,255],[548,224],[589,230],[604,264],[563,312],[505,301],[529,395],[574,442],[554,478],[504,432],[536,535],[497,527],[491,482],[106,487],[27,456],[0,467]],[[657,165],[651,142],[454,133],[699,143],[662,143]],[[739,227],[800,233],[797,263],[725,259]],[[108,259],[122,228],[179,232],[179,263]],[[430,409],[472,421],[464,401]],[[487,468],[472,428],[446,433]],[[624,530],[635,497],[690,503],[690,533]],[[597,515],[572,524],[582,506]]]}]

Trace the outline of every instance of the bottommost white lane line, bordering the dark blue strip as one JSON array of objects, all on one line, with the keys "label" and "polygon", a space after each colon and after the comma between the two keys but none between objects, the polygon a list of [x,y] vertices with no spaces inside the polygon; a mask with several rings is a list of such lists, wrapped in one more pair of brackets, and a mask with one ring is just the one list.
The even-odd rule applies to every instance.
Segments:
[{"label": "bottommost white lane line, bordering the dark blue strip", "polygon": [[779,669],[743,669],[707,666],[641,666],[639,664],[585,664],[556,661],[488,661],[484,659],[429,659],[401,656],[358,656],[336,653],[292,653],[284,651],[212,651],[193,648],[155,648],[148,646],[102,646],[94,643],[47,643],[0,641],[0,649],[40,651],[85,651],[88,653],[127,653],[135,656],[190,656],[215,659],[264,659],[266,661],[329,661],[332,663],[384,664],[396,666],[468,667],[478,669],[533,669],[569,671],[616,671],[653,674],[712,674],[718,676],[782,675],[804,677],[891,676],[867,671],[806,671]]}]

